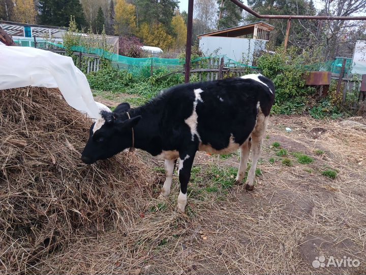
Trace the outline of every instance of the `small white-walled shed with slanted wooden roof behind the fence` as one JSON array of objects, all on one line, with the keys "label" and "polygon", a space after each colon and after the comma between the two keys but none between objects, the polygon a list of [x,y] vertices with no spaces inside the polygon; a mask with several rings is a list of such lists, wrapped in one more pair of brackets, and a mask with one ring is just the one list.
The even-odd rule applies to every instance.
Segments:
[{"label": "small white-walled shed with slanted wooden roof behind the fence", "polygon": [[264,50],[274,26],[259,21],[198,35],[199,47],[207,55],[223,54],[237,62],[252,65],[254,53]]}]

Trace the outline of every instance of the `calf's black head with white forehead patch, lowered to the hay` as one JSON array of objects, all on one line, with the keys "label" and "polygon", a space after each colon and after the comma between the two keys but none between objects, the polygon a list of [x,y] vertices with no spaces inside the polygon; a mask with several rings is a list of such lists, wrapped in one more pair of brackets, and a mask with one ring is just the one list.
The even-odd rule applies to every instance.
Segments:
[{"label": "calf's black head with white forehead patch, lowered to the hay", "polygon": [[89,140],[81,154],[84,163],[107,159],[132,146],[132,128],[141,119],[129,119],[128,103],[119,104],[113,113],[102,111],[101,118],[90,126]]}]

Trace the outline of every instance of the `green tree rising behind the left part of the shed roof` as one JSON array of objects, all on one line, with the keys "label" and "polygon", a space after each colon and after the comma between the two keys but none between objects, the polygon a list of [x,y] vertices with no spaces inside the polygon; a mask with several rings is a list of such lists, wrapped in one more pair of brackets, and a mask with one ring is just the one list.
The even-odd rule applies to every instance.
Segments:
[{"label": "green tree rising behind the left part of the shed roof", "polygon": [[242,20],[241,9],[229,0],[218,0],[217,3],[219,5],[218,29],[227,29],[239,25]]}]

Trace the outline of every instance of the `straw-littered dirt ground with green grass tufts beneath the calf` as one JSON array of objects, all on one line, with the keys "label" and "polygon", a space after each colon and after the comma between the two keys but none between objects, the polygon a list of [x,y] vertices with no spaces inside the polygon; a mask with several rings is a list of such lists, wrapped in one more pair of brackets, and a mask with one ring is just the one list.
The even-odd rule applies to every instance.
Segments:
[{"label": "straw-littered dirt ground with green grass tufts beneath the calf", "polygon": [[[170,196],[158,199],[163,161],[137,150],[157,175],[139,221],[57,257],[89,273],[364,274],[366,131],[352,122],[366,120],[349,121],[271,117],[251,192],[232,184],[238,153],[199,152],[186,214],[175,210],[177,176]],[[131,247],[118,244],[126,238]]]}]

